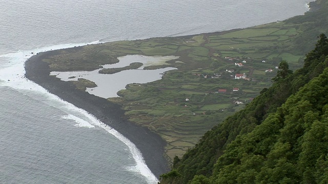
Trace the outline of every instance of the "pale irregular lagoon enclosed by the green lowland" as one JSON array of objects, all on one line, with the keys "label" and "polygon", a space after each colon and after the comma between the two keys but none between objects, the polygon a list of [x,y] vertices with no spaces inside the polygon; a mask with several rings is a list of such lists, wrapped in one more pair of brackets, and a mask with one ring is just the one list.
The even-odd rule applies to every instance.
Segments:
[{"label": "pale irregular lagoon enclosed by the green lowland", "polygon": [[118,57],[118,63],[103,65],[103,68],[115,68],[128,66],[133,62],[140,62],[143,65],[136,70],[125,70],[115,74],[99,74],[98,71],[74,71],[74,72],[51,72],[63,81],[77,81],[79,78],[87,79],[96,83],[97,87],[87,88],[89,94],[101,98],[118,97],[117,91],[125,89],[127,84],[148,83],[160,80],[162,75],[170,70],[176,70],[175,67],[164,67],[156,70],[144,70],[147,66],[169,64],[167,61],[178,59],[178,56],[143,56],[127,55]]}]

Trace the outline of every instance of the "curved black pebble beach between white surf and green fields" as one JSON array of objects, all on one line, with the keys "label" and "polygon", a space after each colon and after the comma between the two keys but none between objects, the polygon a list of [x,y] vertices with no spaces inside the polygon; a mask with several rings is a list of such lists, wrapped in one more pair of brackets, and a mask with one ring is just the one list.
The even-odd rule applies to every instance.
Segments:
[{"label": "curved black pebble beach between white surf and green fields", "polygon": [[61,81],[49,75],[51,72],[49,65],[42,59],[56,53],[57,51],[38,53],[28,59],[25,62],[26,78],[76,107],[85,109],[98,120],[127,137],[140,150],[147,166],[157,178],[168,172],[168,161],[163,156],[166,142],[158,134],[129,122],[124,116],[125,111],[119,105],[86,91],[77,90],[72,82]]}]

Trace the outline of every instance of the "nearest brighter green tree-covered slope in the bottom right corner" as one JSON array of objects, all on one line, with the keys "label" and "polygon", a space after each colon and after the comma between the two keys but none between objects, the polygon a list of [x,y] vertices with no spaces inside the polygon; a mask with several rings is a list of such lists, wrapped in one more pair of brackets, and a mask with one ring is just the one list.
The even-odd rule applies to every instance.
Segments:
[{"label": "nearest brighter green tree-covered slope in the bottom right corner", "polygon": [[218,159],[211,181],[326,183],[327,84],[325,68],[252,132],[237,136]]}]

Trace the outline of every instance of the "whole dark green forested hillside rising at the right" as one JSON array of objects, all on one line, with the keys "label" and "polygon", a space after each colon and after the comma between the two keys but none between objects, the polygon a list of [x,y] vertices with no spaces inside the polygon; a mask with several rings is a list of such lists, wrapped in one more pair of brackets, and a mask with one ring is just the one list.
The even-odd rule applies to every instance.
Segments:
[{"label": "whole dark green forested hillside rising at the right", "polygon": [[[327,11],[318,12],[290,21],[317,24]],[[320,34],[303,68],[293,73],[282,61],[272,87],[175,157],[161,183],[327,183],[327,66],[328,40]]]}]

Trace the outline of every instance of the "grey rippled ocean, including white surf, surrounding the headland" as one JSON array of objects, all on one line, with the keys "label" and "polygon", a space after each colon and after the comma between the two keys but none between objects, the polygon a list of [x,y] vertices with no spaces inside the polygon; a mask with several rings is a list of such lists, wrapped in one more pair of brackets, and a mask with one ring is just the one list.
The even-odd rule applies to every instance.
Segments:
[{"label": "grey rippled ocean, including white surf, surrounding the headland", "polygon": [[31,52],[245,28],[304,0],[0,0],[0,183],[156,183],[129,140],[24,78]]}]

